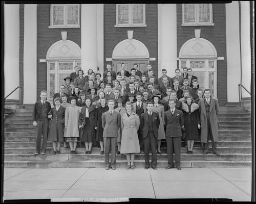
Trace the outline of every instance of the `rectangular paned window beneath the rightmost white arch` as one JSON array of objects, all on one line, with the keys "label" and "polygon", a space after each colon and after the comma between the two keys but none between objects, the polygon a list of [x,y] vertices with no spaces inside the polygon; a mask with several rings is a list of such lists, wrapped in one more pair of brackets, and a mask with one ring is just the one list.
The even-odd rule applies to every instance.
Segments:
[{"label": "rectangular paned window beneath the rightmost white arch", "polygon": [[211,96],[217,98],[217,59],[179,59],[180,70],[191,68],[201,89],[210,89]]}]

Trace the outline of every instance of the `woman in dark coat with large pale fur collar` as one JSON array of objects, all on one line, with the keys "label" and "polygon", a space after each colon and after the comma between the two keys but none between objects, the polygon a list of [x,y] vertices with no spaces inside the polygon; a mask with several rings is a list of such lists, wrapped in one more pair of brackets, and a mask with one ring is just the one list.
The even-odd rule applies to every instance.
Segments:
[{"label": "woman in dark coat with large pale fur collar", "polygon": [[185,103],[182,105],[184,114],[184,126],[187,141],[187,154],[193,154],[193,146],[195,140],[200,140],[199,130],[200,129],[200,116],[199,106],[194,102],[192,96],[186,98]]}]

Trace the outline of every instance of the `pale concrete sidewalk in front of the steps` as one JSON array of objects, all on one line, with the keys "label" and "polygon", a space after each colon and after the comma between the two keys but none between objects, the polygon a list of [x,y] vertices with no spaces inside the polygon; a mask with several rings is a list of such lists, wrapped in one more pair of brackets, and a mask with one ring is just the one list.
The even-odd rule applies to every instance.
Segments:
[{"label": "pale concrete sidewalk in front of the steps", "polygon": [[250,201],[250,195],[250,168],[4,169],[4,200],[130,197]]}]

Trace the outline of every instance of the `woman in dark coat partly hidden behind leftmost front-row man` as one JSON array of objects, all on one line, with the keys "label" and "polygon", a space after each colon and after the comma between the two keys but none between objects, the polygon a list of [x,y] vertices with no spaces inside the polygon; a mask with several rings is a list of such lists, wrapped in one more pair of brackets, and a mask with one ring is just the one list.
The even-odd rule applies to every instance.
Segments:
[{"label": "woman in dark coat partly hidden behind leftmost front-row man", "polygon": [[104,142],[103,142],[103,128],[102,128],[102,119],[101,116],[103,113],[109,110],[109,107],[106,105],[106,99],[100,98],[100,107],[96,108],[96,123],[97,123],[97,133],[96,141],[100,144],[100,154],[104,155]]}]

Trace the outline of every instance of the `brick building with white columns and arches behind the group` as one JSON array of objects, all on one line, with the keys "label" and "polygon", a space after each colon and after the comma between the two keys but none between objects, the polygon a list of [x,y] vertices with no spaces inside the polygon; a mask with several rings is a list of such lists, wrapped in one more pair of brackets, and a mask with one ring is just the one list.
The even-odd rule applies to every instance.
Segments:
[{"label": "brick building with white columns and arches behind the group", "polygon": [[158,77],[190,67],[222,106],[239,101],[238,84],[250,90],[249,2],[5,5],[4,22],[5,96],[21,86],[24,105],[41,90],[51,100],[74,66],[103,73],[107,63],[150,63]]}]

